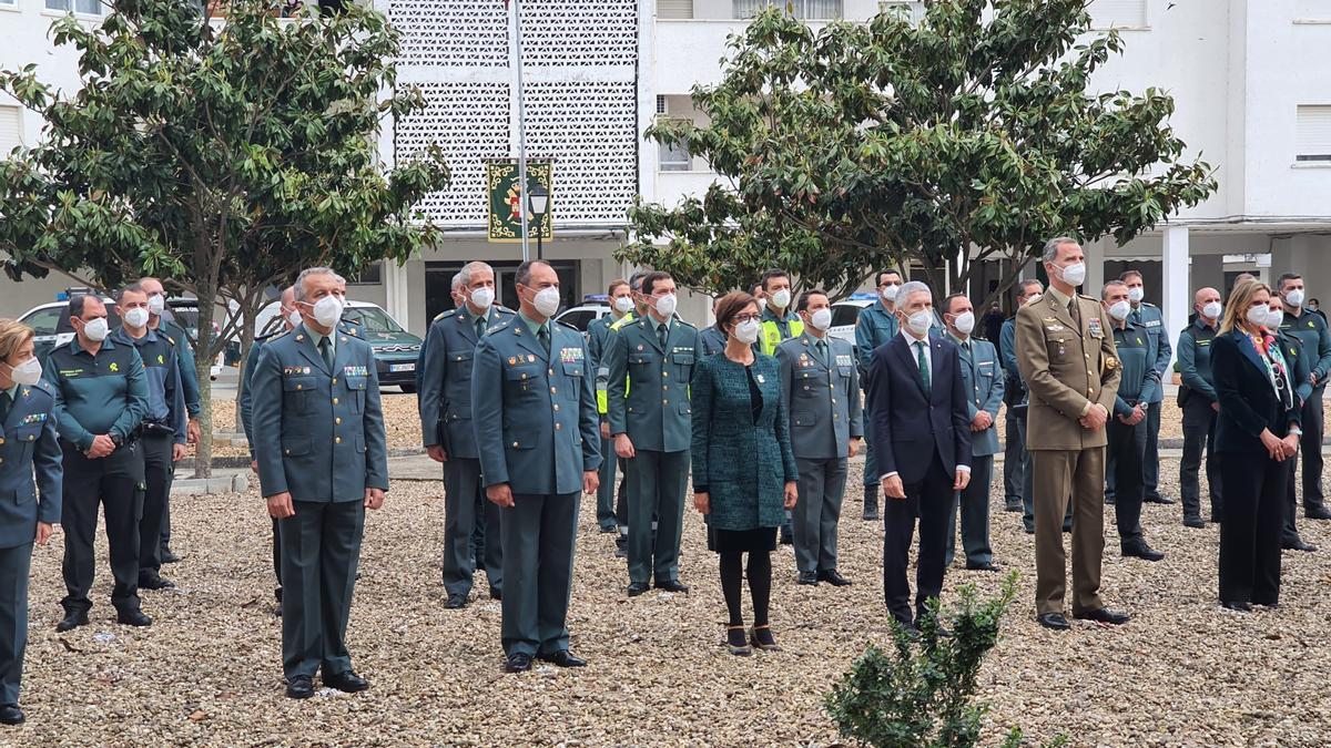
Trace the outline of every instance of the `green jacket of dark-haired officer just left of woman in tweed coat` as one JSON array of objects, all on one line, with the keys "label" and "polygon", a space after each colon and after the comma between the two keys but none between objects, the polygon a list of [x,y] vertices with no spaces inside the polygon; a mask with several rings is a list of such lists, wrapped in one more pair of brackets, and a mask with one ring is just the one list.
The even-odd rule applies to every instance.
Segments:
[{"label": "green jacket of dark-haired officer just left of woman in tweed coat", "polygon": [[606,355],[611,434],[628,434],[634,449],[688,451],[692,406],[688,382],[697,359],[697,329],[669,319],[662,347],[648,315],[610,337]]}]

